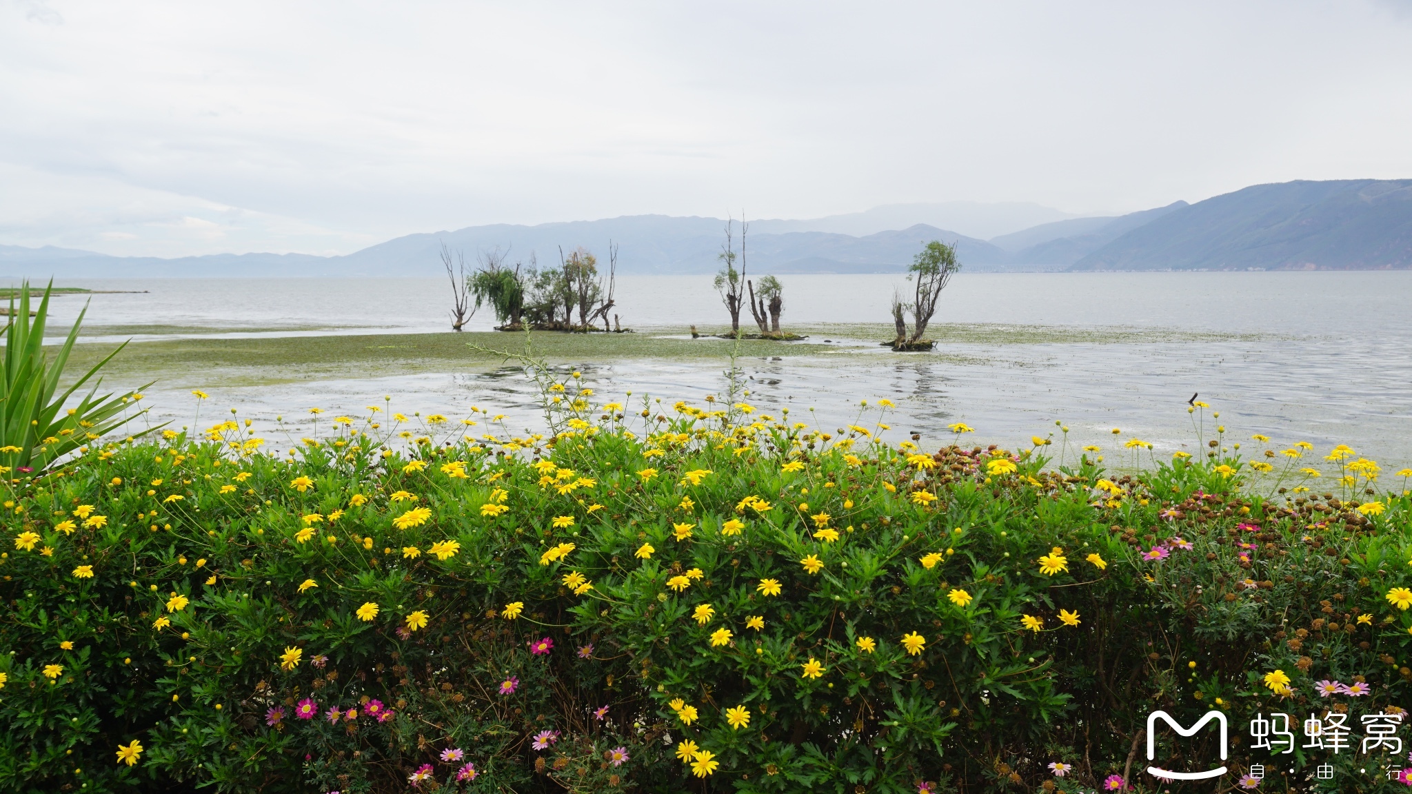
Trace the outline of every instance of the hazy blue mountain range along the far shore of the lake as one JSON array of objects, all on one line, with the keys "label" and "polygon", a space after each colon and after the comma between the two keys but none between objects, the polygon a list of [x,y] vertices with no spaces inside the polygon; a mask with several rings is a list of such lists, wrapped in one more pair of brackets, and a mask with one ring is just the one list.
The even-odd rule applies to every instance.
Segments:
[{"label": "hazy blue mountain range along the far shore of the lake", "polygon": [[[980,206],[980,205],[969,205]],[[995,206],[995,205],[991,205]],[[1038,205],[1000,205],[1043,223],[988,240],[928,223],[960,205],[891,205],[815,220],[757,220],[746,236],[753,273],[898,273],[923,243],[956,243],[967,270],[1378,270],[1412,267],[1412,179],[1255,185],[1197,203],[1108,218],[1053,219]],[[0,275],[102,277],[439,275],[445,243],[467,260],[496,249],[510,261],[556,264],[561,247],[600,260],[620,247],[623,273],[702,274],[719,267],[726,222],[637,215],[538,226],[470,226],[407,235],[346,256],[213,254],[113,257],[73,249],[0,246]],[[1010,227],[1014,227],[1011,225]],[[740,243],[740,225],[736,225]],[[851,233],[849,233],[851,232]]]}]

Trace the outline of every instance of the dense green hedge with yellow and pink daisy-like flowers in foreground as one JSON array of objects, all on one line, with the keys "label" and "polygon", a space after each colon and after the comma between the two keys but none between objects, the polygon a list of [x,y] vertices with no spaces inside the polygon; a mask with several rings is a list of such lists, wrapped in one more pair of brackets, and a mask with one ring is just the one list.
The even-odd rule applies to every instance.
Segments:
[{"label": "dense green hedge with yellow and pink daisy-like flowers in foreground", "polygon": [[[1224,452],[1115,476],[743,404],[634,431],[585,391],[549,437],[397,415],[398,452],[373,414],[281,458],[230,421],[10,480],[0,788],[1152,790],[1152,708],[1412,681],[1408,497],[1371,478],[1286,500]],[[1247,743],[1224,787],[1323,784]]]}]

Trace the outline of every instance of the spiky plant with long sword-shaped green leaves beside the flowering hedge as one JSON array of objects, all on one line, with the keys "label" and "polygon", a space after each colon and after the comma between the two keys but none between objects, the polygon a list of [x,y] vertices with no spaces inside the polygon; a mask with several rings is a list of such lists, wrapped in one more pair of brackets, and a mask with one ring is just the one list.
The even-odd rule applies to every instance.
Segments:
[{"label": "spiky plant with long sword-shaped green leaves beside the flowering hedge", "polygon": [[[44,348],[44,325],[49,316],[52,287],[51,281],[44,288],[44,298],[41,298],[38,309],[32,312],[32,318],[30,316],[28,281],[21,285],[18,301],[13,294],[10,297],[10,324],[4,333],[4,379],[0,383],[3,387],[0,391],[0,461],[17,473],[44,470],[73,449],[147,413],[128,411],[136,407],[134,396],[137,391],[97,396],[103,383],[102,377],[93,381],[88,394],[69,404],[69,400],[127,346],[127,342],[93,365],[90,370],[55,397],[64,377],[64,366],[79,338],[83,315],[88,314],[88,304],[73,321],[73,328],[69,329],[64,345],[51,353]],[[66,404],[68,408],[65,408]]]}]

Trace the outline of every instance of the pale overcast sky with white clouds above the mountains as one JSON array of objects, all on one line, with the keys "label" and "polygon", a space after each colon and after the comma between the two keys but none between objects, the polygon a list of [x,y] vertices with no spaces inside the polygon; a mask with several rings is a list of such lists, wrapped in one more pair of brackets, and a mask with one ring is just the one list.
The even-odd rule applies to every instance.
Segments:
[{"label": "pale overcast sky with white clouds above the mountains", "polygon": [[1412,0],[0,0],[0,244],[1408,178],[1409,40]]}]

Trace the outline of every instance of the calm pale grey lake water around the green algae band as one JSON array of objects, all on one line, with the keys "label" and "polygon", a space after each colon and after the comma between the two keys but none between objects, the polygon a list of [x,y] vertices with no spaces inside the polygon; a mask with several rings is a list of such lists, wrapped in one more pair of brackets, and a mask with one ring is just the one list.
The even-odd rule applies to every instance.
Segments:
[{"label": "calm pale grey lake water around the green algae band", "polygon": [[[898,275],[791,275],[785,325],[887,322]],[[113,280],[99,290],[143,294],[92,297],[90,326],[168,325],[199,335],[301,335],[443,332],[449,287],[443,280]],[[618,280],[623,325],[642,332],[726,321],[709,277],[624,275]],[[1066,422],[1080,444],[1115,452],[1108,431],[1124,431],[1158,449],[1195,448],[1186,400],[1221,411],[1233,441],[1262,432],[1275,444],[1308,439],[1320,454],[1348,444],[1391,473],[1412,462],[1412,273],[1115,273],[960,274],[942,297],[936,322],[1065,326],[1070,329],[1171,329],[1176,340],[1127,343],[1027,343],[949,346],[942,355],[894,356],[874,339],[827,338],[856,355],[744,360],[751,401],[816,408],[825,427],[853,418],[858,400],[898,404],[894,434],[949,438],[964,421],[967,441],[1028,446],[1029,435]],[[72,319],[80,297],[55,302]],[[469,328],[489,329],[483,311]],[[335,329],[335,331],[329,331]],[[126,333],[126,332],[124,332]],[[1182,333],[1200,333],[1183,338]],[[168,333],[138,333],[137,339]],[[127,338],[126,335],[123,338]],[[1151,339],[1151,335],[1142,336]],[[875,355],[874,355],[875,353]],[[681,362],[583,362],[600,396],[626,390],[664,403],[700,400],[722,389],[724,359]],[[151,391],[154,415],[191,418],[192,383]],[[309,405],[361,411],[393,394],[401,410],[463,414],[494,405],[534,424],[522,379],[446,372],[395,379],[347,379],[277,387],[208,389],[212,407],[243,415],[302,414]],[[209,415],[209,414],[208,414]],[[1248,441],[1247,441],[1248,444]]]}]

